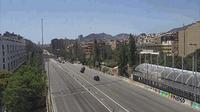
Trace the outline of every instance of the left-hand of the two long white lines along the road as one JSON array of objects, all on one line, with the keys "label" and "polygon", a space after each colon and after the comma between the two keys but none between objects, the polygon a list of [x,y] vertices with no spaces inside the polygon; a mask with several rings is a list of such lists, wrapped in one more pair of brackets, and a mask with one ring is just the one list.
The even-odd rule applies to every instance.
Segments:
[{"label": "left-hand of the two long white lines along the road", "polygon": [[[60,65],[58,65],[59,68],[61,68],[61,70],[63,70],[64,72],[66,72]],[[99,103],[101,103],[109,112],[112,112],[101,100],[99,100],[94,94],[92,94],[92,92],[90,92],[88,90],[88,88],[86,88],[84,85],[82,85],[76,78],[73,77],[73,79],[79,83],[87,92],[89,92],[89,94],[91,94]]]}]

